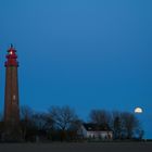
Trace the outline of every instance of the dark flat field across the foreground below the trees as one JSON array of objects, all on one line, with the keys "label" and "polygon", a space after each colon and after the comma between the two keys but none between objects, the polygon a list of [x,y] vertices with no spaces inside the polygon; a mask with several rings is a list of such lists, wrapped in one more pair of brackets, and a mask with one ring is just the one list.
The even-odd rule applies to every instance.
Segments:
[{"label": "dark flat field across the foreground below the trees", "polygon": [[0,152],[152,152],[152,142],[0,143]]}]

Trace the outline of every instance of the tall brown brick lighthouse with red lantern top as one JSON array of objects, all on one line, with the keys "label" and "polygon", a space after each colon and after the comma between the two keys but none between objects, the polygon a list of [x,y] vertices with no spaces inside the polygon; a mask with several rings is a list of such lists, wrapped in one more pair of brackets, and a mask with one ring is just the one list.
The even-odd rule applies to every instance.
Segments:
[{"label": "tall brown brick lighthouse with red lantern top", "polygon": [[17,81],[18,62],[16,61],[16,50],[12,45],[5,58],[4,125],[7,131],[14,131],[20,124],[20,102]]}]

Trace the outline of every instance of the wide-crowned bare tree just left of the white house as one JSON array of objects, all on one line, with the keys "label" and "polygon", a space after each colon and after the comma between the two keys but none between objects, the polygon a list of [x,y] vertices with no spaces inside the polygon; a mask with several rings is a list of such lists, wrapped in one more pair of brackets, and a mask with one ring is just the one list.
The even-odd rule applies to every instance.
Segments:
[{"label": "wide-crowned bare tree just left of the white house", "polygon": [[78,117],[69,106],[51,106],[49,115],[54,122],[56,128],[52,138],[56,140],[69,140],[76,137],[76,128],[78,126]]}]

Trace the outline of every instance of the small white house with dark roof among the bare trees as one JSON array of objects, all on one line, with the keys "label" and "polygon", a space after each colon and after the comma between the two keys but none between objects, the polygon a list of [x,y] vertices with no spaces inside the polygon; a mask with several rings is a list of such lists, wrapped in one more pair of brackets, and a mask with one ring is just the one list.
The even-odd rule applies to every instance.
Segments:
[{"label": "small white house with dark roof among the bare trees", "polygon": [[81,125],[78,131],[85,139],[94,140],[112,140],[113,131],[110,129],[109,125],[97,125],[92,123],[85,123]]}]

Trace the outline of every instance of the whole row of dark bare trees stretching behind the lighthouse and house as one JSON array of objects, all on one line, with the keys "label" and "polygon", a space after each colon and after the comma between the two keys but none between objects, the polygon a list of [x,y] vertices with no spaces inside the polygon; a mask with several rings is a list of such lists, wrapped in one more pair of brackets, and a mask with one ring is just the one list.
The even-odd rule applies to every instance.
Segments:
[{"label": "whole row of dark bare trees stretching behind the lighthouse and house", "polygon": [[[35,112],[27,105],[21,107],[20,132],[23,141],[83,141],[78,134],[84,123],[105,125],[113,131],[113,140],[142,139],[143,129],[135,114],[91,110],[88,121],[83,121],[69,106],[51,106],[48,112]],[[3,121],[0,122],[2,138]]]}]

